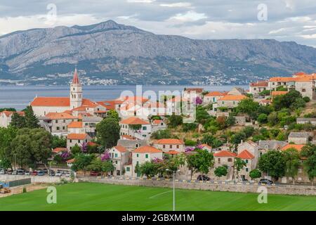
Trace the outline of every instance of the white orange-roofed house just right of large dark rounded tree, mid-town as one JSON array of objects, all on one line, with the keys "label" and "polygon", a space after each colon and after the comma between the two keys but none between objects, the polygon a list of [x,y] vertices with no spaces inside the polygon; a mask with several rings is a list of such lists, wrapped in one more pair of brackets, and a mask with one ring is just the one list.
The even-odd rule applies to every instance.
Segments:
[{"label": "white orange-roofed house just right of large dark rounded tree, mid-town", "polygon": [[128,117],[119,122],[120,135],[130,135],[136,139],[145,140],[150,139],[152,133],[152,126],[147,120],[138,117]]}]

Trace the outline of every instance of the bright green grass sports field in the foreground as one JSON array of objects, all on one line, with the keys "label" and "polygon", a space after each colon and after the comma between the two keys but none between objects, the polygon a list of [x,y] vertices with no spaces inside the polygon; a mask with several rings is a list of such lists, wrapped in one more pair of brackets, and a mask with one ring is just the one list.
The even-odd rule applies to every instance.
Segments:
[{"label": "bright green grass sports field in the foreground", "polygon": [[[0,198],[0,210],[172,210],[172,189],[94,183],[56,186],[57,203],[46,189]],[[176,190],[176,210],[316,210],[316,196]]]}]

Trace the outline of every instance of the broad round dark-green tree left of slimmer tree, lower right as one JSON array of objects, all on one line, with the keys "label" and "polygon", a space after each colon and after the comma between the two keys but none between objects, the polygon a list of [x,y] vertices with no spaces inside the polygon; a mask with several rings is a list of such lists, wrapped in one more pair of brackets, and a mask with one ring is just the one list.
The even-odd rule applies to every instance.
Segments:
[{"label": "broad round dark-green tree left of slimmer tree, lower right", "polygon": [[258,161],[258,167],[262,172],[266,172],[269,176],[279,179],[285,174],[285,160],[283,153],[278,150],[268,150],[267,153],[261,155]]}]

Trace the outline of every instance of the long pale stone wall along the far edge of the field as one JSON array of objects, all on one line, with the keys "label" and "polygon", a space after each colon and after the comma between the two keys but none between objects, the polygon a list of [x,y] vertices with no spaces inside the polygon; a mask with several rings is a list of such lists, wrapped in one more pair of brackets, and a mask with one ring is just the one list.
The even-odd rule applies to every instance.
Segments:
[{"label": "long pale stone wall along the far edge of the field", "polygon": [[[80,177],[79,181],[96,182],[103,184],[121,184],[133,186],[149,186],[172,188],[172,181],[150,181],[150,180],[124,180],[124,179],[100,179],[91,177]],[[258,185],[243,185],[243,184],[207,184],[200,182],[176,182],[176,188],[194,189],[207,191],[232,191],[240,193],[258,193]],[[314,186],[265,186],[268,188],[268,194],[282,195],[316,195],[316,187]]]}]

